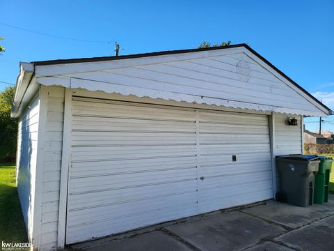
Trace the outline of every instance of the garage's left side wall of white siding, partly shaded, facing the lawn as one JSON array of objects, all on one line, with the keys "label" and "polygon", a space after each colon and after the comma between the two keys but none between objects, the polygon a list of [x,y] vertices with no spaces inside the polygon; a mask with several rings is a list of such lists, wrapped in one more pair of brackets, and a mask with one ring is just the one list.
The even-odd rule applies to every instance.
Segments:
[{"label": "garage's left side wall of white siding, partly shaded, facing the lawn", "polygon": [[[26,108],[19,118],[17,133],[17,192],[29,240],[33,229],[33,192],[38,140],[39,97]],[[3,142],[5,144],[5,142]]]}]

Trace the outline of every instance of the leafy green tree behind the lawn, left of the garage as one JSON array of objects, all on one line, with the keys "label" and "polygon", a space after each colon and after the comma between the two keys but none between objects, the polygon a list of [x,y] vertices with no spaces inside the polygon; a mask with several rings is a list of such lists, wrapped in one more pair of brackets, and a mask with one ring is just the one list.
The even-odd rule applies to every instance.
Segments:
[{"label": "leafy green tree behind the lawn, left of the garage", "polygon": [[0,92],[0,162],[13,162],[16,156],[17,119],[10,117],[15,88]]}]

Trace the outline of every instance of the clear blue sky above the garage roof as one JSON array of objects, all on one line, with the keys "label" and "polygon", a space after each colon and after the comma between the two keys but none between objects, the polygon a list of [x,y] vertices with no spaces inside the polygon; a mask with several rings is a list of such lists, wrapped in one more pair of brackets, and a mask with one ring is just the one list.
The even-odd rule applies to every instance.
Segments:
[{"label": "clear blue sky above the garage roof", "polygon": [[[247,43],[334,109],[334,1],[1,1],[0,81],[15,83],[19,61],[195,48],[203,40]],[[110,43],[106,43],[110,41]],[[6,84],[0,83],[0,90]],[[306,119],[310,130],[318,118]],[[326,121],[333,121],[328,117]],[[333,130],[334,124],[324,123]]]}]

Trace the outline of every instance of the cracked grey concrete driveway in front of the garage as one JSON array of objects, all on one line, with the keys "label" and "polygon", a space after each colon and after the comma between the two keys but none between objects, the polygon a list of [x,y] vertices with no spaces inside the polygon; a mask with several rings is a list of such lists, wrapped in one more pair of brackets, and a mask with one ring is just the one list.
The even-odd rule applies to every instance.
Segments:
[{"label": "cracked grey concrete driveway in front of the garage", "polygon": [[334,195],[300,208],[277,201],[216,211],[72,245],[74,250],[333,250]]}]

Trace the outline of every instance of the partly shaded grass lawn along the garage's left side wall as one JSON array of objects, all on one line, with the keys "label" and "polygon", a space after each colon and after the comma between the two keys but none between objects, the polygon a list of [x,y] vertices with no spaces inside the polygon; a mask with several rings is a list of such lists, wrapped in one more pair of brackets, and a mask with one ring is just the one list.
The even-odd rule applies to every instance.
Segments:
[{"label": "partly shaded grass lawn along the garage's left side wall", "polygon": [[0,164],[0,242],[26,243],[26,228],[15,184],[15,166]]}]

